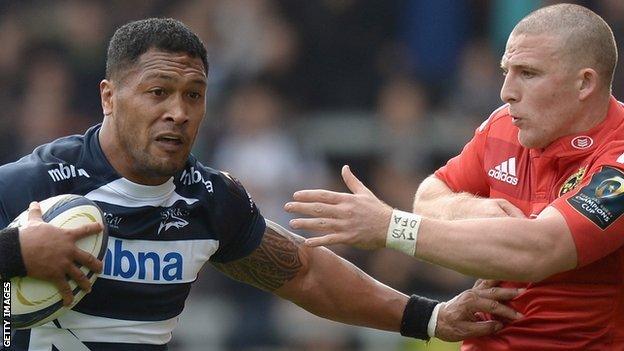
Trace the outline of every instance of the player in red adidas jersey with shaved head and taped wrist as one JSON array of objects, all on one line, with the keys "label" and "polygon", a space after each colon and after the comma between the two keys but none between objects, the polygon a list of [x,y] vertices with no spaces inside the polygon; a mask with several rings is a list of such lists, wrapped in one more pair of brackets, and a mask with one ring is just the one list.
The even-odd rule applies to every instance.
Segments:
[{"label": "player in red adidas jersey with shaved head and taped wrist", "polygon": [[[391,247],[526,291],[524,315],[462,350],[624,350],[624,106],[611,96],[607,23],[571,4],[520,21],[501,67],[506,103],[460,155],[393,210],[348,167],[353,194],[305,190],[286,204],[326,234],[312,246]],[[441,304],[440,309],[444,309]]]}]

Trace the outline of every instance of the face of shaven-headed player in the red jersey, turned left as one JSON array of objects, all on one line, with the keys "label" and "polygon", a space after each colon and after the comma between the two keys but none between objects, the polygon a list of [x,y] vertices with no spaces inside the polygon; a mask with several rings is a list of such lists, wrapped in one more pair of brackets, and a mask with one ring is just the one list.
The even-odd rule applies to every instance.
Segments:
[{"label": "face of shaven-headed player in the red jersey, turned left", "polygon": [[505,82],[501,99],[509,103],[520,144],[543,148],[573,132],[578,118],[579,70],[572,68],[556,35],[512,35],[501,60]]}]

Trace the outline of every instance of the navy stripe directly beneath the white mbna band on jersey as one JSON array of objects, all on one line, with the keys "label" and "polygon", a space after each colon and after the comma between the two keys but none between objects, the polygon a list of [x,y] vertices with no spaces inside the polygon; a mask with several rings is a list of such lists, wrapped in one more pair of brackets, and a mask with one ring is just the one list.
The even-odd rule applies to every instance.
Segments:
[{"label": "navy stripe directly beneath the white mbna band on jersey", "polygon": [[190,289],[190,283],[128,284],[101,278],[73,310],[106,318],[161,321],[182,312]]}]

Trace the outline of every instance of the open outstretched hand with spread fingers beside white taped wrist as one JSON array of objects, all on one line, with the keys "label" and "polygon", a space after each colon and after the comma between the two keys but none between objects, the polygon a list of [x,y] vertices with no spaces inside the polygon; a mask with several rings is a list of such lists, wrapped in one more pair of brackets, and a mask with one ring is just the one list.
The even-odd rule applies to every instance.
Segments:
[{"label": "open outstretched hand with spread fingers beside white taped wrist", "polygon": [[284,206],[287,212],[312,218],[290,221],[293,229],[303,229],[325,236],[306,240],[310,246],[349,244],[362,249],[386,246],[386,232],[392,207],[379,200],[349,166],[342,167],[342,179],[352,194],[327,190],[301,190],[295,201]]}]

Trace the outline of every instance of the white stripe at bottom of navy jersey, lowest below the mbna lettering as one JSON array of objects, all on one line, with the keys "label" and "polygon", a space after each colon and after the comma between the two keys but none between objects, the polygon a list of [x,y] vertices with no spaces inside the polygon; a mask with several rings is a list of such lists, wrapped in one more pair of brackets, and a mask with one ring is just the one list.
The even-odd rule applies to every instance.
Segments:
[{"label": "white stripe at bottom of navy jersey, lowest below the mbna lettering", "polygon": [[[178,325],[178,317],[164,321],[126,321],[104,317],[90,316],[76,311],[68,311],[58,318],[65,329],[57,328],[48,323],[34,328],[30,334],[29,351],[49,351],[51,344],[74,346],[76,342],[113,342],[131,344],[162,345],[171,340],[171,332]],[[71,335],[69,331],[80,340]],[[60,348],[59,348],[60,349]],[[66,348],[63,350],[80,350]]]}]

